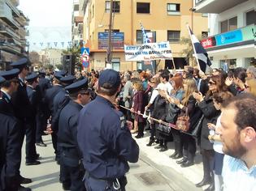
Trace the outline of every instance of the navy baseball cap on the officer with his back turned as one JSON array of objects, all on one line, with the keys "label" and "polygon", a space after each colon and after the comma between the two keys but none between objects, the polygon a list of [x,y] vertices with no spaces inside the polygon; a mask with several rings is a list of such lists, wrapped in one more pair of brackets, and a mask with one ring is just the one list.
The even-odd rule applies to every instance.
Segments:
[{"label": "navy baseball cap on the officer with his back turned", "polygon": [[103,70],[98,78],[98,86],[103,87],[104,83],[110,84],[111,85],[110,88],[118,87],[121,83],[119,73],[111,69]]}]

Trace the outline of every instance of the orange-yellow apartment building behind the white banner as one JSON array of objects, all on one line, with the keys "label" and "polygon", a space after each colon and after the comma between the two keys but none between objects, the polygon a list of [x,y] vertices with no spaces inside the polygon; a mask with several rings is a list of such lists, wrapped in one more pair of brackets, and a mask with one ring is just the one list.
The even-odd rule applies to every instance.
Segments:
[{"label": "orange-yellow apartment building behind the white banner", "polygon": [[[90,48],[90,66],[96,70],[106,67],[108,28],[111,1],[83,0],[83,38]],[[151,32],[156,42],[169,41],[176,68],[187,65],[186,46],[180,45],[182,36],[189,37],[186,23],[197,36],[208,32],[207,15],[193,12],[193,0],[115,0],[113,5],[112,63],[114,70],[145,70],[151,66],[143,62],[125,62],[124,45],[142,43],[140,23]],[[158,62],[157,62],[158,63]],[[172,68],[169,60],[158,63],[160,68]],[[154,62],[155,67],[155,62]]]}]

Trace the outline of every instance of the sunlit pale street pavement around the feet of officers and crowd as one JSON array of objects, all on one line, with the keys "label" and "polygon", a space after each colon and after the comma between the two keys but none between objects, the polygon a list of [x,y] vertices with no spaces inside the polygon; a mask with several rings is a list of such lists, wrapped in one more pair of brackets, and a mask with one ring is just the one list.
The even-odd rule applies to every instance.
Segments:
[{"label": "sunlit pale street pavement around the feet of officers and crowd", "polygon": [[[54,150],[50,136],[43,137],[47,147],[37,146],[37,153],[41,156],[41,164],[25,166],[25,151],[23,146],[23,161],[21,175],[32,178],[33,183],[24,185],[35,191],[63,190],[59,183],[59,165],[54,161]],[[170,159],[173,152],[172,142],[168,143],[168,151],[159,152],[154,146],[146,146],[149,142],[149,132],[145,137],[137,139],[140,146],[138,163],[130,163],[128,177],[128,191],[197,191],[202,190],[194,186],[202,180],[202,162],[200,155],[196,156],[196,164],[189,168],[180,168],[176,160]],[[207,187],[207,186],[206,186]],[[203,187],[205,189],[206,187]]]}]

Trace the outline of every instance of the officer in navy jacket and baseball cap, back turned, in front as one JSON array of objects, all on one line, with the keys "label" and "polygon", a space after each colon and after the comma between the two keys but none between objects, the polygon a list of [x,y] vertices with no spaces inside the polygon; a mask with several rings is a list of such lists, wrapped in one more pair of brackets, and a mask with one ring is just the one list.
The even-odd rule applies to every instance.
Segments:
[{"label": "officer in navy jacket and baseball cap, back turned, in front", "polygon": [[120,91],[115,70],[98,79],[98,96],[80,112],[77,141],[83,154],[88,191],[125,190],[128,162],[137,163],[139,147],[113,103]]}]

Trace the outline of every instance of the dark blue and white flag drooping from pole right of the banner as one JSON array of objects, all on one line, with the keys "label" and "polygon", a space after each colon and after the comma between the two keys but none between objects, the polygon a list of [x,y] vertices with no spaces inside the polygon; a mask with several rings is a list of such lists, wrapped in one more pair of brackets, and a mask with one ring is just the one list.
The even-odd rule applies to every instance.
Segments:
[{"label": "dark blue and white flag drooping from pole right of the banner", "polygon": [[187,25],[187,27],[189,29],[189,35],[193,45],[193,52],[195,54],[195,57],[197,58],[197,64],[199,65],[200,70],[205,73],[209,70],[211,65],[208,53],[206,52],[206,49],[202,47],[197,37],[193,34],[191,28],[189,28],[189,25]]}]

